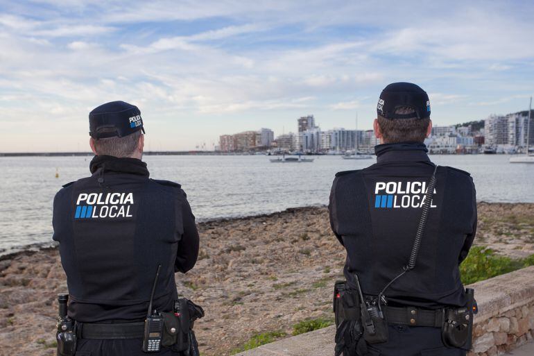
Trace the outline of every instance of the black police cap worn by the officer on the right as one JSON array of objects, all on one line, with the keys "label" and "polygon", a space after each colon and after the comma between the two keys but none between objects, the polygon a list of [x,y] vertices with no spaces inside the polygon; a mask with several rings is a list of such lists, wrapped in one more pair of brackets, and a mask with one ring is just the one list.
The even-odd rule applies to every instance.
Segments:
[{"label": "black police cap worn by the officer on the right", "polygon": [[[407,107],[414,114],[395,114],[397,108]],[[430,101],[427,92],[413,83],[391,83],[382,90],[378,99],[377,114],[385,119],[424,119],[430,117]]]}]

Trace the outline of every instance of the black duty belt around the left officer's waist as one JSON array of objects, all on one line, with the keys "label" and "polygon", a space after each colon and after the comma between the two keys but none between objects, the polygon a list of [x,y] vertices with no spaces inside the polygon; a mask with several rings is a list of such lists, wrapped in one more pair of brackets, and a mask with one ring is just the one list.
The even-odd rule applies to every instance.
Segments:
[{"label": "black duty belt around the left officer's waist", "polygon": [[78,323],[76,322],[78,339],[142,339],[144,323]]}]

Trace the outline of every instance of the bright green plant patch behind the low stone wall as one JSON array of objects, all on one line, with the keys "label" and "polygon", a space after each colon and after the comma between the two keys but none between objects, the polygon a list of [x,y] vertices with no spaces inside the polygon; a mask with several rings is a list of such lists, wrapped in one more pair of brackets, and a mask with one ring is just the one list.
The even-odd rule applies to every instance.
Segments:
[{"label": "bright green plant patch behind the low stone wall", "polygon": [[486,246],[474,246],[465,261],[460,264],[460,276],[462,276],[464,285],[470,285],[533,264],[534,255],[513,260],[510,257],[495,254],[491,248]]}]

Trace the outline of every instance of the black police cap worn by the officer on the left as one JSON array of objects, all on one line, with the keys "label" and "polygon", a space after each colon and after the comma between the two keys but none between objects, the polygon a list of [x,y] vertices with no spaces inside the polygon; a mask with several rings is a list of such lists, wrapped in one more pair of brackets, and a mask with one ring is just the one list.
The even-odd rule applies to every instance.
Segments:
[{"label": "black police cap worn by the officer on the left", "polygon": [[141,111],[124,101],[112,101],[89,112],[89,135],[94,139],[124,137],[139,130],[145,132]]}]

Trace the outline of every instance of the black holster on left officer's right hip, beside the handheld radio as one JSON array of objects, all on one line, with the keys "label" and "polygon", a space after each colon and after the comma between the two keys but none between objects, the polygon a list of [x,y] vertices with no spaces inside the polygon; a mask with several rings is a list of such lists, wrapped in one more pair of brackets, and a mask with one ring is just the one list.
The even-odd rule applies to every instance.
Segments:
[{"label": "black holster on left officer's right hip, beside the handheld radio", "polygon": [[182,353],[182,355],[198,355],[198,343],[193,332],[196,319],[204,316],[204,310],[187,298],[179,298],[175,302],[173,312],[163,312],[162,346]]}]

